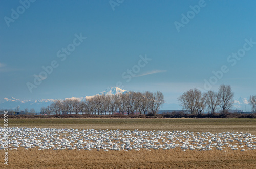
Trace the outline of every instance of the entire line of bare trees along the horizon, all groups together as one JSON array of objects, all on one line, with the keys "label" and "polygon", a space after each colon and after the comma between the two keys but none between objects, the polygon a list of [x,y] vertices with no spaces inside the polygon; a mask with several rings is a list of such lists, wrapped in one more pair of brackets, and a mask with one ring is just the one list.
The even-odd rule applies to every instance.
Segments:
[{"label": "entire line of bare trees along the horizon, all groups together", "polygon": [[[228,112],[232,107],[234,100],[234,92],[230,85],[220,85],[217,92],[209,90],[202,93],[198,89],[190,89],[183,93],[178,101],[184,110],[191,114],[201,114],[202,112]],[[256,112],[256,95],[250,96],[248,100],[251,105],[252,112]],[[41,113],[47,115],[60,114],[146,114],[152,112],[154,115],[164,103],[162,92],[126,92],[116,95],[96,95],[84,101],[79,99],[54,100],[47,106],[41,107]],[[15,110],[10,109],[9,112],[19,112],[19,106]],[[29,112],[25,108],[25,112]],[[30,112],[35,112],[32,108]]]}]

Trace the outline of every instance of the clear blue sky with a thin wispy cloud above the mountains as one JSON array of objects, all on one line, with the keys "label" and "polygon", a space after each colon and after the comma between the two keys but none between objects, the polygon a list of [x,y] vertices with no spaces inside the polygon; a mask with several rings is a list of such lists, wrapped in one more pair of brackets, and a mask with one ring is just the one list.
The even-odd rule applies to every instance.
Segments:
[{"label": "clear blue sky with a thin wispy cloud above the mountains", "polygon": [[[177,104],[185,91],[206,89],[205,80],[217,79],[212,71],[222,66],[229,71],[210,89],[225,83],[236,98],[256,94],[255,1],[119,2],[113,10],[110,1],[37,0],[25,3],[27,9],[20,1],[2,1],[0,100],[90,96],[121,82],[125,90],[160,90],[167,103]],[[194,15],[190,6],[197,10]],[[189,22],[178,31],[175,23],[182,24],[182,14]],[[81,43],[74,46],[80,35],[87,38],[76,39]],[[68,46],[72,52],[61,61],[57,52],[65,54],[62,48]],[[238,51],[243,57],[229,58]],[[142,67],[138,63],[145,55]],[[58,66],[31,92],[34,74],[43,77],[42,66],[53,61]],[[136,72],[129,82],[123,78],[127,70]]]}]

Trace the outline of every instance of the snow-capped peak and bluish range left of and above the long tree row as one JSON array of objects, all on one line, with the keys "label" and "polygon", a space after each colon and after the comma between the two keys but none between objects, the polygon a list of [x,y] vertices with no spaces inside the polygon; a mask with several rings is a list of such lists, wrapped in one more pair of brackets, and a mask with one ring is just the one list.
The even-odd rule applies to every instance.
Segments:
[{"label": "snow-capped peak and bluish range left of and above the long tree row", "polygon": [[[115,95],[115,94],[126,93],[126,92],[127,92],[126,90],[120,89],[118,87],[112,87],[112,88],[108,88],[96,95]],[[94,96],[96,96],[96,95],[94,95]],[[84,101],[84,100],[92,98],[94,96],[71,97],[71,98],[64,98],[64,99],[78,99],[80,101]],[[64,99],[62,99],[62,100],[64,100]],[[54,99],[20,100],[20,99],[14,98],[14,97],[10,97],[10,98],[4,98],[0,102],[0,109],[14,109],[17,106],[20,106],[20,111],[24,110],[25,108],[28,108],[29,110],[31,108],[34,108],[36,112],[40,112],[41,107],[47,107],[53,101],[54,101]]]}]

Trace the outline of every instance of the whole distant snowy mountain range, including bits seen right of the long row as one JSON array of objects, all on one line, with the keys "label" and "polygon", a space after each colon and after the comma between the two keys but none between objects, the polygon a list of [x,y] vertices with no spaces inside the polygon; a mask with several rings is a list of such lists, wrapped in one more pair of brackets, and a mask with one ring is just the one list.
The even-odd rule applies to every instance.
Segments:
[{"label": "whole distant snowy mountain range, including bits seen right of the long row", "polygon": [[[120,89],[118,87],[108,88],[96,95],[115,95],[119,93],[126,93],[127,91],[124,89]],[[94,95],[95,96],[95,95]],[[64,98],[64,99],[79,99],[80,101],[84,101],[86,99],[92,98],[94,96],[84,96],[84,97],[71,97],[71,98]],[[62,100],[64,100],[62,99]],[[41,107],[47,107],[50,105],[54,99],[41,99],[41,100],[20,100],[14,97],[4,98],[0,102],[0,109],[15,109],[15,107],[19,106],[20,111],[28,108],[34,108],[36,112],[40,112]],[[160,108],[161,110],[179,110],[182,109],[179,104],[171,104],[171,103],[164,103],[163,107]],[[242,110],[242,111],[250,111],[250,105],[247,98],[239,98],[234,100],[233,107],[231,108],[235,112],[235,110]]]}]

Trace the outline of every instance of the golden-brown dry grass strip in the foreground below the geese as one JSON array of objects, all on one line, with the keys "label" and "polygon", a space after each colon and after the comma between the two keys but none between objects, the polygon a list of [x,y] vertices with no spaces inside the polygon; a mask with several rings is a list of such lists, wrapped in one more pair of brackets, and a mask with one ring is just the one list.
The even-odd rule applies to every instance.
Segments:
[{"label": "golden-brown dry grass strip in the foreground below the geese", "polygon": [[[3,151],[1,151],[1,156]],[[9,151],[8,168],[256,168],[255,151]],[[4,168],[4,164],[0,164]]]}]

